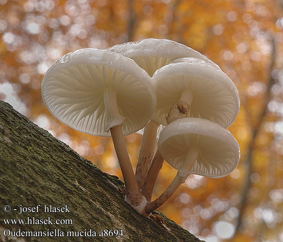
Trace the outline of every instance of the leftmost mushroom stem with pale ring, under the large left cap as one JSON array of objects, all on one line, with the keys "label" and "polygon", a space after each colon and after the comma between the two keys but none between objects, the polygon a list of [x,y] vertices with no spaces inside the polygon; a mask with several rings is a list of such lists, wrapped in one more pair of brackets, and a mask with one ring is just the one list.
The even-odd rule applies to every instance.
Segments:
[{"label": "leftmost mushroom stem with pale ring, under the large left cap", "polygon": [[139,205],[143,203],[145,198],[141,195],[134,177],[133,167],[122,132],[122,123],[125,121],[125,118],[119,113],[116,91],[110,88],[105,89],[103,93],[103,100],[107,119],[105,132],[108,132],[109,130],[111,132],[114,148],[125,181],[125,200],[134,209],[139,210]]}]

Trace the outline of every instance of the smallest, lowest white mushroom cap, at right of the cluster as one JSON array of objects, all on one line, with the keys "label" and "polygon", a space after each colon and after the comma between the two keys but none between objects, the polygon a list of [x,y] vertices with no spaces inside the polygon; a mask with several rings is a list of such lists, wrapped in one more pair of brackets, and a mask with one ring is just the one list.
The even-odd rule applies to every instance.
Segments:
[{"label": "smallest, lowest white mushroom cap, at right of the cluster", "polygon": [[206,177],[224,177],[238,165],[240,148],[233,135],[209,120],[184,118],[168,124],[160,133],[158,149],[173,168],[179,170],[188,150],[196,145],[197,161],[190,173]]}]

